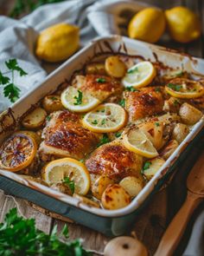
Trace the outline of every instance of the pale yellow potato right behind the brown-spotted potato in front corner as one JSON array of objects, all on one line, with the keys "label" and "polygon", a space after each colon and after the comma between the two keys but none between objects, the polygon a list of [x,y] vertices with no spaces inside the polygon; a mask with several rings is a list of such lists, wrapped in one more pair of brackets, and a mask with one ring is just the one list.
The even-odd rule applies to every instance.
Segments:
[{"label": "pale yellow potato right behind the brown-spotted potato in front corner", "polygon": [[131,197],[135,197],[143,189],[143,178],[127,176],[119,182],[119,185],[124,187],[124,190],[130,194]]}]

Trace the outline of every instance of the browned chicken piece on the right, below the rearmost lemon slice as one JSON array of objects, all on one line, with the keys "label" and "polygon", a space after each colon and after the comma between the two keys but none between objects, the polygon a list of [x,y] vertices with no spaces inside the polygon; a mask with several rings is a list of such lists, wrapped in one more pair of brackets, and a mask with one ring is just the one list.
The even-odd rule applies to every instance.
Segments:
[{"label": "browned chicken piece on the right, below the rearmost lemon slice", "polygon": [[163,94],[155,87],[140,89],[135,92],[125,92],[125,108],[130,121],[137,121],[146,116],[163,112]]}]

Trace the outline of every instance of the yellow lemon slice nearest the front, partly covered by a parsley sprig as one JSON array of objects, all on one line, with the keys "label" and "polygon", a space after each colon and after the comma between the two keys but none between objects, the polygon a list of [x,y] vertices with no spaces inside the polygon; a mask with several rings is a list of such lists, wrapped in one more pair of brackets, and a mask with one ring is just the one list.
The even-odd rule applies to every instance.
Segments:
[{"label": "yellow lemon slice nearest the front, partly covered by a parsley sprig", "polygon": [[48,185],[63,181],[66,177],[74,182],[74,193],[87,194],[90,188],[90,174],[86,166],[73,158],[62,158],[48,163],[42,172],[42,179]]}]

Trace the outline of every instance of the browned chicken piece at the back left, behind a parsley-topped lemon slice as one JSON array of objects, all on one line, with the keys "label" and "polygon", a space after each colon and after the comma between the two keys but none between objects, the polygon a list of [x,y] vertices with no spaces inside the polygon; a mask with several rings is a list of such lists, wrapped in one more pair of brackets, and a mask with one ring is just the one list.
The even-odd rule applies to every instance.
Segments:
[{"label": "browned chicken piece at the back left, behind a parsley-topped lemon slice", "polygon": [[73,79],[73,86],[89,92],[101,102],[112,95],[122,94],[123,90],[117,80],[106,75],[76,75]]}]

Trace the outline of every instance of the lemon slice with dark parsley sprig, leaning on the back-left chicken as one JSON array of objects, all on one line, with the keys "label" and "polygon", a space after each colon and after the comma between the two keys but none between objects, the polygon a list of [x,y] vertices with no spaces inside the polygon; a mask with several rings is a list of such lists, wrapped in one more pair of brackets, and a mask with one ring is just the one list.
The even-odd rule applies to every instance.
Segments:
[{"label": "lemon slice with dark parsley sprig, leaning on the back-left chicken", "polygon": [[62,105],[73,112],[87,112],[99,105],[99,100],[90,93],[69,86],[61,94]]}]

